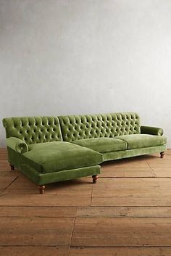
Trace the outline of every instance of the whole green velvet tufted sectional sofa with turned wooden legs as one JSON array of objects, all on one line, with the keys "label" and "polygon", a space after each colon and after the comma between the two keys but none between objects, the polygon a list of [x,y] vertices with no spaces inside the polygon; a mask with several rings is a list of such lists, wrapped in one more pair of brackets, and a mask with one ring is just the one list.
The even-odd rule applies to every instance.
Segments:
[{"label": "whole green velvet tufted sectional sofa with turned wooden legs", "polygon": [[7,117],[8,160],[39,185],[92,176],[101,162],[159,152],[167,139],[162,128],[141,126],[134,112],[59,117]]}]

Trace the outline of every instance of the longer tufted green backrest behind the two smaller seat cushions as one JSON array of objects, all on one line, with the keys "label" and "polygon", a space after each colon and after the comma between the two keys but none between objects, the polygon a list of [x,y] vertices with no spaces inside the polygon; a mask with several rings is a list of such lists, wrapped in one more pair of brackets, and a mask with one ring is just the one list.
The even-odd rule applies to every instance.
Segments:
[{"label": "longer tufted green backrest behind the two smaller seat cushions", "polygon": [[63,140],[69,142],[140,133],[140,120],[133,112],[60,116],[59,122]]}]

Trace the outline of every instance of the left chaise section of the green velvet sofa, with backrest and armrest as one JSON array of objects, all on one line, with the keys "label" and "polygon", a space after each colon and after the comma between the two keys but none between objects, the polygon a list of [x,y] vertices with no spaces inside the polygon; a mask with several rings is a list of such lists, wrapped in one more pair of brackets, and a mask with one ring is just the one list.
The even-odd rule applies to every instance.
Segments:
[{"label": "left chaise section of the green velvet sofa, with backrest and armrest", "polygon": [[88,148],[62,141],[58,117],[9,117],[3,120],[8,160],[39,185],[92,176],[96,183],[102,156]]}]

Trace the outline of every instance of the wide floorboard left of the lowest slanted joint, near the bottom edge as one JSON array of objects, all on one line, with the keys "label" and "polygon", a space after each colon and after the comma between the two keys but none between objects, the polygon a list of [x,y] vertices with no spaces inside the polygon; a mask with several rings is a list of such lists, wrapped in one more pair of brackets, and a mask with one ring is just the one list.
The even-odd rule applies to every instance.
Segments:
[{"label": "wide floorboard left of the lowest slanted joint, near the bottom edge", "polygon": [[1,217],[0,245],[69,246],[74,218]]}]

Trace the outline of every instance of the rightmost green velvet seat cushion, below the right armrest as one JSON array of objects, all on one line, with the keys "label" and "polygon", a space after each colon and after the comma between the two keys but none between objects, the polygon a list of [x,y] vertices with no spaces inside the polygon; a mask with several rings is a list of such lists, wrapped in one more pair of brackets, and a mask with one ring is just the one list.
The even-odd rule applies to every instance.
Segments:
[{"label": "rightmost green velvet seat cushion, below the right armrest", "polygon": [[125,141],[128,144],[128,149],[141,149],[150,146],[161,146],[167,143],[166,137],[149,134],[130,134],[117,136],[116,138]]}]

